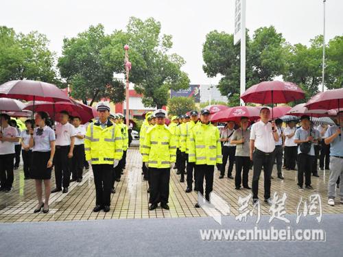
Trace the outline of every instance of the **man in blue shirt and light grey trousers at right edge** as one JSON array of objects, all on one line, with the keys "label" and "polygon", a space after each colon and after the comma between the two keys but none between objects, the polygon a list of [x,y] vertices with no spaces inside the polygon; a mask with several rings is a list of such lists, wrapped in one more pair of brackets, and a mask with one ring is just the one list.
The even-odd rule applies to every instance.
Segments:
[{"label": "man in blue shirt and light grey trousers at right edge", "polygon": [[340,203],[343,204],[343,112],[337,114],[338,125],[333,125],[327,129],[324,136],[324,143],[331,144],[330,147],[330,176],[328,183],[328,201],[331,206],[335,205],[336,181],[340,177]]}]

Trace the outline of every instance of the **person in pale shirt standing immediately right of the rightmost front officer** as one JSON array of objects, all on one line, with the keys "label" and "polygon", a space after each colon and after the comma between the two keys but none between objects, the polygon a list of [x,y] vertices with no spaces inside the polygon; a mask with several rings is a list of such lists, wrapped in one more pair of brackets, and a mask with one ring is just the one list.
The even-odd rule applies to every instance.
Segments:
[{"label": "person in pale shirt standing immediately right of the rightmost front officer", "polygon": [[223,143],[222,145],[222,165],[220,168],[220,177],[224,178],[225,175],[225,167],[226,162],[228,161],[228,178],[233,180],[233,163],[235,162],[235,154],[236,154],[236,145],[230,143],[230,140],[233,136],[233,132],[235,127],[235,121],[228,121],[225,127],[220,129],[220,141]]}]

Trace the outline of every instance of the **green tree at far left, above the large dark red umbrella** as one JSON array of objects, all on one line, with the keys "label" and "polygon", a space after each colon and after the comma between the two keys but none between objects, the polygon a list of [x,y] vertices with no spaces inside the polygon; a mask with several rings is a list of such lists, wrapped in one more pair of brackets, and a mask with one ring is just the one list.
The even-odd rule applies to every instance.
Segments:
[{"label": "green tree at far left, above the large dark red umbrella", "polygon": [[49,51],[43,34],[16,34],[0,27],[0,84],[15,79],[32,79],[61,86],[55,69],[55,53]]}]

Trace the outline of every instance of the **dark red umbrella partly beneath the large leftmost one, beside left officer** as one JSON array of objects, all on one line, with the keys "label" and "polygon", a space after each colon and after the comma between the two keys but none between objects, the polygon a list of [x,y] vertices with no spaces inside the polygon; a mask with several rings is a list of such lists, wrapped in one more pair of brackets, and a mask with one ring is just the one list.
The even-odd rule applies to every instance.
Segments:
[{"label": "dark red umbrella partly beneath the large leftmost one, beside left officer", "polygon": [[91,106],[86,106],[82,103],[74,104],[75,101],[71,100],[70,102],[59,101],[56,103],[51,103],[49,101],[32,101],[27,103],[27,106],[24,110],[33,110],[35,112],[47,112],[50,117],[55,117],[55,114],[65,110],[69,112],[71,116],[78,116],[82,120],[82,124],[87,123],[89,120],[97,117],[97,111]]}]

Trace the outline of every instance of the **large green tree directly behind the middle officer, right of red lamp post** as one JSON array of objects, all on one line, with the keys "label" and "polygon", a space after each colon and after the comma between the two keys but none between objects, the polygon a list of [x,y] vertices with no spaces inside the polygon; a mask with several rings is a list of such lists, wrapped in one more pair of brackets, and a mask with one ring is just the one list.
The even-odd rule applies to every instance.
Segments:
[{"label": "large green tree directly behind the middle officer, right of red lamp post", "polygon": [[104,50],[107,66],[123,73],[123,46],[130,46],[130,82],[134,83],[137,93],[143,94],[145,107],[162,108],[167,104],[170,89],[189,87],[189,78],[181,71],[185,60],[176,53],[169,53],[171,40],[170,35],[161,35],[161,23],[152,18],[142,21],[131,17],[126,32],[113,32],[110,45]]}]

